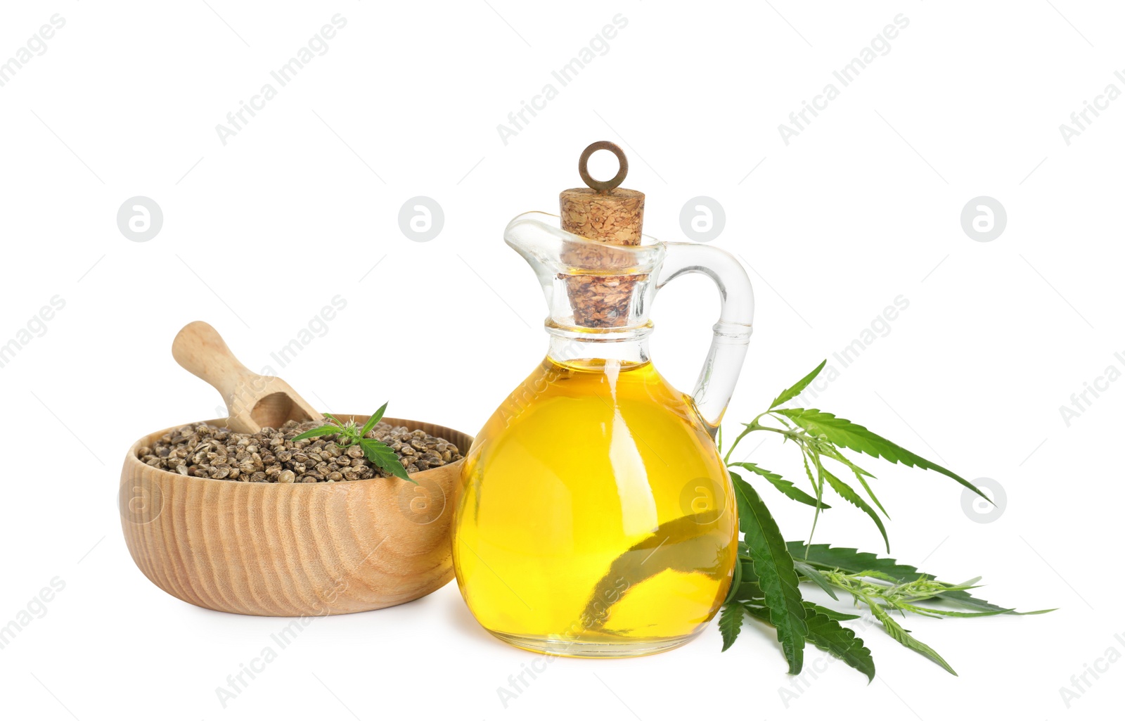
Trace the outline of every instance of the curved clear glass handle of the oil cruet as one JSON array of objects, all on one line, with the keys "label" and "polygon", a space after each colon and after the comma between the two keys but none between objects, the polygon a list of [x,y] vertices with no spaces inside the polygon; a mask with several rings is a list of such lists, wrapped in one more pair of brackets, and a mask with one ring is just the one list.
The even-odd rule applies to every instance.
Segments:
[{"label": "curved clear glass handle of the oil cruet", "polygon": [[742,370],[754,323],[754,288],[742,265],[730,253],[698,243],[666,243],[656,289],[685,273],[703,273],[719,287],[722,307],[706,361],[700,371],[692,400],[708,432],[714,438],[722,414]]}]

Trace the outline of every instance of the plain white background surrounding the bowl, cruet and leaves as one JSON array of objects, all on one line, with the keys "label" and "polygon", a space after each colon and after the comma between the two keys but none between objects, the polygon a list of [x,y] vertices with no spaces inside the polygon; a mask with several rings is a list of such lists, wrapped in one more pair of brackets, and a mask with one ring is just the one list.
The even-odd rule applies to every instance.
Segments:
[{"label": "plain white background surrounding the bowl, cruet and leaves", "polygon": [[[0,368],[0,623],[53,577],[65,583],[0,650],[6,718],[1120,713],[1123,663],[1069,709],[1060,687],[1108,648],[1125,652],[1114,638],[1125,636],[1115,556],[1125,382],[1069,426],[1060,406],[1108,366],[1125,369],[1114,357],[1125,352],[1125,99],[1069,145],[1059,129],[1108,83],[1125,90],[1114,76],[1125,69],[1120,7],[208,2],[20,2],[0,16],[0,61],[53,13],[65,18],[0,88],[0,342],[53,296],[65,300]],[[338,12],[346,27],[328,52],[224,145],[215,126]],[[503,143],[497,125],[616,13],[628,25],[609,52]],[[898,13],[909,26],[891,51],[786,145],[778,124]],[[171,358],[176,331],[210,322],[248,366],[272,366],[322,409],[369,413],[389,398],[394,415],[472,433],[546,349],[538,286],[503,244],[504,225],[555,211],[596,139],[629,153],[626,184],[648,193],[647,233],[680,240],[681,207],[695,196],[726,209],[714,244],[753,269],[758,301],[731,423],[858,337],[893,298],[909,300],[816,403],[1005,489],[1004,512],[980,523],[953,481],[866,463],[893,519],[894,557],[948,580],[982,575],[996,603],[1060,611],[908,619],[960,677],[866,629],[874,683],[810,649],[807,668],[826,670],[807,673],[786,708],[772,630],[752,625],[720,654],[712,627],[660,656],[556,660],[505,709],[497,687],[534,657],[477,627],[450,584],[316,620],[224,709],[215,688],[284,621],[155,588],[116,508],[135,439],[216,415],[218,395]],[[164,214],[144,243],[115,222],[138,195]],[[1008,215],[989,243],[960,223],[982,195]],[[444,210],[429,243],[399,231],[413,196]],[[328,332],[286,368],[272,363],[335,295],[348,307]],[[677,386],[694,382],[717,313],[700,278],[657,300],[654,358]],[[752,458],[800,474],[773,441]],[[802,538],[808,508],[763,495],[786,535]],[[843,504],[817,540],[881,550]]]}]

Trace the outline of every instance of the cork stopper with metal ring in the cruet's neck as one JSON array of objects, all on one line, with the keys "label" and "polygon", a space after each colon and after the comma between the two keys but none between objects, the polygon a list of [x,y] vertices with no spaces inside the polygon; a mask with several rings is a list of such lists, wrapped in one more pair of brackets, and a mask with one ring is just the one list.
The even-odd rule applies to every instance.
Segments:
[{"label": "cork stopper with metal ring in the cruet's neck", "polygon": [[[620,168],[611,180],[594,180],[586,163],[595,151],[608,150],[618,156]],[[645,219],[645,193],[618,186],[629,172],[624,151],[609,141],[592,143],[578,157],[578,174],[587,188],[570,188],[559,193],[562,229],[606,245],[640,245]],[[564,253],[564,262],[577,268],[612,265],[596,246]],[[629,323],[633,290],[645,277],[612,274],[566,276],[574,319],[585,327],[620,327]]]}]

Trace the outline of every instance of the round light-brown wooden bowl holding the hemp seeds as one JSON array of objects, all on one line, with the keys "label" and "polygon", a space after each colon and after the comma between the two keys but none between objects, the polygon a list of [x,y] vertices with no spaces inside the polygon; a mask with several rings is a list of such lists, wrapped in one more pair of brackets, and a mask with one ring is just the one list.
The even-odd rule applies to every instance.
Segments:
[{"label": "round light-brown wooden bowl holding the hemp seeds", "polygon": [[[461,453],[472,444],[452,429],[384,420],[446,439]],[[230,613],[330,615],[414,601],[453,577],[450,522],[461,461],[414,474],[415,486],[399,478],[213,480],[137,458],[137,449],[174,430],[133,444],[118,501],[137,568],[177,598]]]}]

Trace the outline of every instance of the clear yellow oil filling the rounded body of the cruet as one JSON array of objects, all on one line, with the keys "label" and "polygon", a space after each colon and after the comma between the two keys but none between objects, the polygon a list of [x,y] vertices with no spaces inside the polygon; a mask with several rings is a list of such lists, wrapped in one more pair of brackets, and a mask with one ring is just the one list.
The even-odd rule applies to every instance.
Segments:
[{"label": "clear yellow oil filling the rounded body of the cruet", "polygon": [[469,609],[505,641],[634,656],[711,620],[736,533],[714,443],[650,362],[548,358],[466,457],[453,562]]}]

